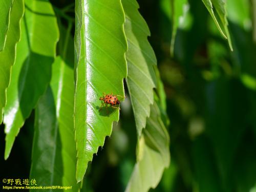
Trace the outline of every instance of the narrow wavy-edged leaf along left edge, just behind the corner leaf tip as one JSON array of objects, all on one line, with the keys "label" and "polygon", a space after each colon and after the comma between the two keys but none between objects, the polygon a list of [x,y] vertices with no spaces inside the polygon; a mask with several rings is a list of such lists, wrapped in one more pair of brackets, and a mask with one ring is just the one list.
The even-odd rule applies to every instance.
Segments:
[{"label": "narrow wavy-edged leaf along left edge, just behind the corner leaf tip", "polygon": [[[7,2],[8,1],[6,1],[6,3]],[[1,9],[1,6],[0,6],[0,9]],[[0,10],[0,14],[2,14],[1,10]],[[16,44],[20,39],[20,19],[22,18],[23,14],[24,14],[24,2],[15,1],[11,10],[9,30],[6,33],[6,36],[7,36],[6,46],[5,46],[5,49],[2,52],[0,52],[0,72],[2,74],[1,80],[0,80],[0,124],[2,123],[2,120],[3,120],[3,115],[2,115],[3,108],[6,105],[6,89],[10,83],[11,68],[15,62]],[[0,19],[2,19],[2,16],[0,16]],[[1,21],[0,21],[0,25],[2,25]],[[0,35],[1,35],[1,31],[2,29],[0,29]]]}]

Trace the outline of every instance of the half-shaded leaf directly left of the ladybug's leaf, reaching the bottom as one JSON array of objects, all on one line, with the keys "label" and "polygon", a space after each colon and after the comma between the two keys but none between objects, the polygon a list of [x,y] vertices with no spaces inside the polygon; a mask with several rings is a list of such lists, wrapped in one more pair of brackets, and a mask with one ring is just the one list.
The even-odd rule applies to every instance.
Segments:
[{"label": "half-shaded leaf directly left of the ladybug's leaf, reaching the bottom", "polygon": [[72,186],[72,191],[78,191],[73,121],[74,41],[70,29],[61,30],[61,56],[52,66],[51,87],[37,104],[30,178],[40,185]]}]

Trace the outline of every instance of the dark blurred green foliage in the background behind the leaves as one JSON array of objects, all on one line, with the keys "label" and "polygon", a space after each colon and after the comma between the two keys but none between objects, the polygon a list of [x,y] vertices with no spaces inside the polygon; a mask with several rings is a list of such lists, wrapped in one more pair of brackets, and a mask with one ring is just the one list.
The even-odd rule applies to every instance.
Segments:
[{"label": "dark blurred green foliage in the background behind the leaves", "polygon": [[[52,4],[60,8],[72,2]],[[170,121],[170,166],[150,191],[256,191],[255,1],[227,0],[233,51],[202,1],[187,2],[185,23],[177,27],[171,57],[169,4],[164,0],[138,1],[151,31],[148,39],[156,53]],[[68,14],[73,17],[74,10]],[[62,22],[66,23],[65,18]],[[136,162],[137,142],[129,99],[120,113],[112,136],[89,163],[81,191],[125,190]],[[9,159],[1,159],[1,178],[29,178],[33,123],[34,112]],[[0,150],[4,154],[3,124],[1,130]]]}]

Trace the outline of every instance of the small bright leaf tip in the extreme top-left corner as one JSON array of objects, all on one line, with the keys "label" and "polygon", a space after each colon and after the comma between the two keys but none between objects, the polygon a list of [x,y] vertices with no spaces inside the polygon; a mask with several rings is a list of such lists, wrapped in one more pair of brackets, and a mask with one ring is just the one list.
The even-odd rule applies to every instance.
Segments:
[{"label": "small bright leaf tip in the extreme top-left corner", "polygon": [[[0,52],[3,51],[5,48],[7,31],[10,24],[10,13],[12,9],[12,4],[13,0],[0,0]],[[17,13],[19,13],[20,11],[18,11]]]}]

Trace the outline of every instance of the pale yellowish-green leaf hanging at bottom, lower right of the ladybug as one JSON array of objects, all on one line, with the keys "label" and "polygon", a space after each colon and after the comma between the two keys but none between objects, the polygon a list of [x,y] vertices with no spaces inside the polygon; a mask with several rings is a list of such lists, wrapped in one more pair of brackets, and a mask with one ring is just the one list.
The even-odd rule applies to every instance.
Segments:
[{"label": "pale yellowish-green leaf hanging at bottom, lower right of the ladybug", "polygon": [[126,192],[155,188],[169,166],[169,135],[161,119],[159,106],[151,105],[151,115],[138,143],[138,157]]}]

